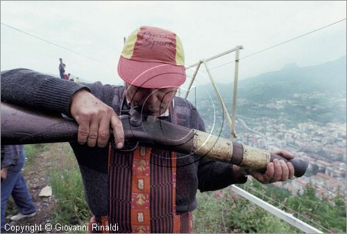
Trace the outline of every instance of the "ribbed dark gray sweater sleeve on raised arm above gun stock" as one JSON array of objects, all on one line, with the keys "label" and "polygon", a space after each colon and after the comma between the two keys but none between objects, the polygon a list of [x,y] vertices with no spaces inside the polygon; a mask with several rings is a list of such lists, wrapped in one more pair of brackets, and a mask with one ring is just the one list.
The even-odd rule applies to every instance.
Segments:
[{"label": "ribbed dark gray sweater sleeve on raised arm above gun stock", "polygon": [[1,101],[58,111],[71,116],[71,97],[90,89],[82,84],[55,78],[29,69],[1,71]]}]

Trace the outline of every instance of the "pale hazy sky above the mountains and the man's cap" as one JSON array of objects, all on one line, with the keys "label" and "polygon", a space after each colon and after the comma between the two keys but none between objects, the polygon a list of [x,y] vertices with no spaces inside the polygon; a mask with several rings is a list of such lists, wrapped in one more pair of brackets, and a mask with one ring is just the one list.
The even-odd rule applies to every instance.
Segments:
[{"label": "pale hazy sky above the mountains and the man's cap", "polygon": [[[139,26],[177,33],[186,65],[244,46],[240,57],[346,18],[346,1],[1,1],[1,23],[83,55],[76,55],[1,24],[1,71],[25,67],[58,74],[66,71],[90,81],[119,84],[117,63],[123,37]],[[346,20],[241,60],[239,77],[308,66],[346,55]],[[235,54],[210,67],[230,62]],[[212,69],[217,82],[231,82],[233,66]],[[203,71],[203,69],[201,70]],[[188,72],[189,73],[189,72]],[[188,78],[189,80],[189,78]],[[198,83],[208,82],[205,73]]]}]

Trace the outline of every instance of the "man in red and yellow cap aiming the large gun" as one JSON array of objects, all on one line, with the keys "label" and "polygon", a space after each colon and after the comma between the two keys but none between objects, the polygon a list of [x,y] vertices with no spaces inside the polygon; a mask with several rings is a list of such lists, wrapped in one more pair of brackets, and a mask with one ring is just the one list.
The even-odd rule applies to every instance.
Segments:
[{"label": "man in red and yellow cap aiming the large gun", "polygon": [[[60,111],[78,123],[78,143],[71,143],[81,169],[92,223],[117,224],[122,233],[187,233],[192,231],[196,191],[218,190],[247,178],[236,165],[176,154],[149,147],[126,148],[117,115],[142,107],[185,127],[205,130],[195,107],[175,97],[185,82],[183,46],[168,30],[142,26],[126,39],[118,64],[124,87],[76,84],[26,69],[1,73],[1,100]],[[19,84],[11,90],[10,84]],[[28,90],[31,82],[38,89]],[[19,91],[21,89],[21,91]],[[109,143],[110,126],[115,144]],[[108,147],[107,147],[108,146]],[[276,152],[288,159],[285,151]],[[294,174],[291,163],[275,160],[265,173],[251,172],[262,183],[285,181]],[[90,230],[91,231],[91,230]],[[94,230],[95,231],[95,230]]]}]

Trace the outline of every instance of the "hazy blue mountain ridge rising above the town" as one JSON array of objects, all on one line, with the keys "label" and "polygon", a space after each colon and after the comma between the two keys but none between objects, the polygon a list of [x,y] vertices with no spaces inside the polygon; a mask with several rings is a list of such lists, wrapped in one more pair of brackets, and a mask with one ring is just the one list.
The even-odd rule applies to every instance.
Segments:
[{"label": "hazy blue mountain ridge rising above the town", "polygon": [[[223,98],[232,97],[233,83],[216,84]],[[214,93],[212,84],[196,87],[197,96],[205,89]],[[239,80],[238,98],[266,102],[271,98],[289,98],[294,93],[339,91],[346,93],[346,56],[315,66],[287,67]]]}]

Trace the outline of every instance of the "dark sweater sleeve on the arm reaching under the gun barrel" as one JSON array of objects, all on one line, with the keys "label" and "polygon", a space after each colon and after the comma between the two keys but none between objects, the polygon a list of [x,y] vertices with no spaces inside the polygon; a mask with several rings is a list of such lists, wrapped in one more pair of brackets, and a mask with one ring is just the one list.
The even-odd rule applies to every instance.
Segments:
[{"label": "dark sweater sleeve on the arm reaching under the gun barrel", "polygon": [[[193,107],[191,123],[195,129],[205,132],[205,124],[198,111]],[[198,161],[198,189],[201,192],[219,190],[233,183],[246,183],[247,177],[235,177],[232,164],[202,158]]]}]

